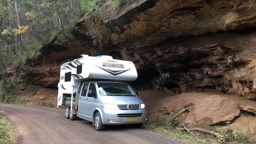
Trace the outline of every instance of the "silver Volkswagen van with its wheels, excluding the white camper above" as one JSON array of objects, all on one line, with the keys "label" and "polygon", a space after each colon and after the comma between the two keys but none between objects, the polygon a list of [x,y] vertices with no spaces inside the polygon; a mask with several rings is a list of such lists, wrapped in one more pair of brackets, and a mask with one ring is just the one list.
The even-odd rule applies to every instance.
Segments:
[{"label": "silver Volkswagen van with its wheels, excluding the white camper above", "polygon": [[[147,120],[144,102],[138,92],[121,82],[94,81],[80,84],[76,116],[93,122],[97,131],[104,125],[136,124],[138,127]],[[78,96],[77,95],[77,96]],[[73,118],[70,107],[65,110],[66,118]]]}]

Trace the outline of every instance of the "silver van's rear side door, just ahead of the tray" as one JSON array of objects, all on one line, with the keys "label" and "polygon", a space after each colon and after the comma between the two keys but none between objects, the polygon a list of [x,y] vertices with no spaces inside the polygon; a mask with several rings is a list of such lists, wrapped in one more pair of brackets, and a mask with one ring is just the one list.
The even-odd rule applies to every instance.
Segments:
[{"label": "silver van's rear side door, just ahead of the tray", "polygon": [[[78,100],[78,113],[79,117],[84,117],[85,115],[85,100],[86,100],[86,94],[88,90],[89,84],[84,83],[83,87],[80,92],[79,100]],[[82,114],[82,115],[81,115]]]}]

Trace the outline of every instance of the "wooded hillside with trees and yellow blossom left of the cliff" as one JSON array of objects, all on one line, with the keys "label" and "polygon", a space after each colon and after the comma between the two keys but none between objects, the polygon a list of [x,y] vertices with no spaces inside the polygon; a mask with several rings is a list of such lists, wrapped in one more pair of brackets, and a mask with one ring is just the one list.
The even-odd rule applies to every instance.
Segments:
[{"label": "wooded hillside with trees and yellow blossom left of the cliff", "polygon": [[[96,0],[0,0],[0,102],[23,104],[19,85],[27,83],[31,62],[42,56],[42,46],[54,39],[55,46],[74,40],[78,19],[88,22],[86,36],[92,44],[102,40],[100,7],[119,7],[120,1]],[[10,72],[10,70],[12,72]],[[45,102],[38,106],[52,107]]]}]

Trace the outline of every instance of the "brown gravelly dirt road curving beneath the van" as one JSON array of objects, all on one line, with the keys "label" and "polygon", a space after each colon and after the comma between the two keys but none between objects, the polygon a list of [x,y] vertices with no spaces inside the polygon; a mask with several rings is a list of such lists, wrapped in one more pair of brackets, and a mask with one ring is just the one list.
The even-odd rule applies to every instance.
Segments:
[{"label": "brown gravelly dirt road curving beneath the van", "polygon": [[20,143],[184,143],[129,125],[108,126],[104,131],[96,131],[92,122],[82,119],[70,121],[64,117],[64,110],[54,108],[9,104],[0,104],[0,108],[17,128],[18,135],[22,137]]}]

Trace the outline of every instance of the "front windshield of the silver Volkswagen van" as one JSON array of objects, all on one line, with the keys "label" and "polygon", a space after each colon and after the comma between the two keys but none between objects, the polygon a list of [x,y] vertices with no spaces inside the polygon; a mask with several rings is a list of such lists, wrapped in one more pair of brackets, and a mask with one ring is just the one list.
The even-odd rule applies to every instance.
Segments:
[{"label": "front windshield of the silver Volkswagen van", "polygon": [[136,96],[128,84],[98,83],[98,88],[103,96]]}]

